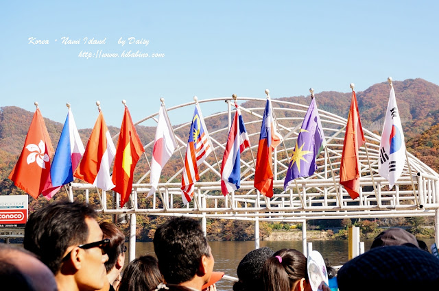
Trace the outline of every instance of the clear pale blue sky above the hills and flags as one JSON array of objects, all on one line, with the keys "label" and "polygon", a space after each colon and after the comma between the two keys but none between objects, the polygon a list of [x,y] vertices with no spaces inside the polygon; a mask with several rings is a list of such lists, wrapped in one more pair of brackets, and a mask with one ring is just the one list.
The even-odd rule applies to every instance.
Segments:
[{"label": "clear pale blue sky above the hills and flags", "polygon": [[[125,3],[129,2],[129,3]],[[439,84],[436,1],[1,1],[0,106],[79,128],[93,127],[95,101],[120,126],[199,99],[272,98],[357,91],[420,77]],[[29,44],[29,37],[49,45]],[[62,45],[62,37],[81,40]],[[119,38],[149,40],[118,45]],[[84,45],[84,38],[105,45]],[[57,40],[57,41],[55,41]],[[163,58],[79,58],[80,51],[164,53]],[[385,101],[387,102],[387,101]],[[226,110],[203,104],[204,116]],[[224,103],[222,103],[224,104]],[[191,120],[193,107],[171,115]],[[154,123],[145,123],[154,125]],[[115,133],[112,133],[115,134]]]}]

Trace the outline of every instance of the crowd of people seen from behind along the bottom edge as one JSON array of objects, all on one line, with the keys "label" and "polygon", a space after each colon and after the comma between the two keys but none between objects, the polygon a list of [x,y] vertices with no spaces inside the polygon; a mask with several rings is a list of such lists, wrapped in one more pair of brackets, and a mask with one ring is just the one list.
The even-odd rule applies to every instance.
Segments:
[{"label": "crowd of people seen from behind along the bottom edge", "polygon": [[[176,217],[158,227],[156,257],[138,257],[123,270],[125,236],[96,218],[91,205],[67,201],[31,214],[24,249],[0,246],[2,290],[215,291],[224,275],[213,272],[211,247],[195,219]],[[316,291],[307,262],[295,249],[255,249],[239,263],[233,291]],[[380,233],[370,251],[338,273],[326,270],[329,284],[318,290],[436,290],[439,283],[439,259],[399,228]]]}]

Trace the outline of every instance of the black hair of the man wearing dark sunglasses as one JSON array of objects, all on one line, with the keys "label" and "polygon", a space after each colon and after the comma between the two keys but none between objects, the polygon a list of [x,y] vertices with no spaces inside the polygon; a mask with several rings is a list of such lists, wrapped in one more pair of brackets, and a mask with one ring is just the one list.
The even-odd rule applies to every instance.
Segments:
[{"label": "black hair of the man wearing dark sunglasses", "polygon": [[91,205],[78,201],[50,203],[29,216],[23,246],[56,275],[69,246],[86,243],[86,218],[97,218]]}]

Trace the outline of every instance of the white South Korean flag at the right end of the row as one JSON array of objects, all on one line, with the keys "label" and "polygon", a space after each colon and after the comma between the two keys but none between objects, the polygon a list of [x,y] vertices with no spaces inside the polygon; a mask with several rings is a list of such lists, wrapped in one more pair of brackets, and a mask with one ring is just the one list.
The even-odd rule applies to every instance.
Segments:
[{"label": "white South Korean flag at the right end of the row", "polygon": [[396,180],[403,173],[404,163],[404,133],[392,86],[385,112],[383,134],[381,134],[381,142],[379,142],[379,175],[389,181],[389,189],[392,189]]}]

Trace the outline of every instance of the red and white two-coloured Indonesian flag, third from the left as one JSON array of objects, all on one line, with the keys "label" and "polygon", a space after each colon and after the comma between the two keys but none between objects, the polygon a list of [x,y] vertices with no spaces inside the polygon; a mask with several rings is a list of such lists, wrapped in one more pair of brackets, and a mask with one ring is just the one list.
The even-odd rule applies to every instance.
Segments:
[{"label": "red and white two-coloured Indonesian flag, third from the left", "polygon": [[95,127],[93,127],[87,142],[84,157],[82,157],[73,176],[102,190],[115,188],[110,177],[110,165],[115,153],[115,144],[112,143],[104,116],[99,111]]}]

